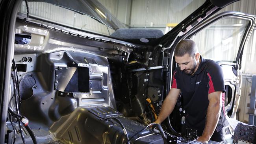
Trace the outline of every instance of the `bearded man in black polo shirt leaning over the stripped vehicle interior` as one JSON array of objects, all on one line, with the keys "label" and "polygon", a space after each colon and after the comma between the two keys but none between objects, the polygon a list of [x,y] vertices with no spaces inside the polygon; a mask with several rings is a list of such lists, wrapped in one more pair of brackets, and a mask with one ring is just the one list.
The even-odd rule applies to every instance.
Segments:
[{"label": "bearded man in black polo shirt leaning over the stripped vehicle interior", "polygon": [[[225,121],[223,100],[225,87],[221,66],[203,59],[197,45],[190,39],[180,41],[174,50],[178,67],[173,72],[171,90],[161,107],[160,124],[172,113],[180,92],[183,96],[185,116],[182,134],[186,128],[196,129],[199,142],[223,141],[222,128]],[[217,126],[218,124],[218,126]]]}]

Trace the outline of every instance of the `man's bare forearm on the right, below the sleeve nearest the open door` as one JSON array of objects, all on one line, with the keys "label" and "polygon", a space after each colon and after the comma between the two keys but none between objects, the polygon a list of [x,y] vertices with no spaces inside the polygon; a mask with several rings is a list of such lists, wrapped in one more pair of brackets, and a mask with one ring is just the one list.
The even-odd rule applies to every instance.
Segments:
[{"label": "man's bare forearm on the right, below the sleeve nearest the open door", "polygon": [[204,127],[204,132],[202,138],[210,140],[219,120],[221,114],[221,103],[214,102],[209,103],[207,114],[206,114],[206,125]]}]

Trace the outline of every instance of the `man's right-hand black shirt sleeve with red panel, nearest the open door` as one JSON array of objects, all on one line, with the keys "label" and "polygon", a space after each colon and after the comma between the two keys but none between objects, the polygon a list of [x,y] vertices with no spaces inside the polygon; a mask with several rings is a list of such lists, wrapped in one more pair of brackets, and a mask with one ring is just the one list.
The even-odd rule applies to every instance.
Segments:
[{"label": "man's right-hand black shirt sleeve with red panel, nearest the open door", "polygon": [[225,92],[224,76],[221,66],[213,62],[208,69],[208,94],[217,91]]}]

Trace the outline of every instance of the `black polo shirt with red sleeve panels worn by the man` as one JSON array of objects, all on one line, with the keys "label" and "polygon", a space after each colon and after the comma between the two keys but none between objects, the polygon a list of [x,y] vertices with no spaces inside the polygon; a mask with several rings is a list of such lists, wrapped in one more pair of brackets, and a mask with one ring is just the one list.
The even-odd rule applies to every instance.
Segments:
[{"label": "black polo shirt with red sleeve panels worn by the man", "polygon": [[209,105],[208,94],[222,91],[222,111],[216,130],[219,131],[224,124],[224,77],[221,66],[210,59],[203,59],[193,76],[186,74],[177,67],[173,72],[171,88],[180,89],[183,96],[183,110],[185,111],[185,126],[197,129],[201,136],[206,123],[206,113]]}]

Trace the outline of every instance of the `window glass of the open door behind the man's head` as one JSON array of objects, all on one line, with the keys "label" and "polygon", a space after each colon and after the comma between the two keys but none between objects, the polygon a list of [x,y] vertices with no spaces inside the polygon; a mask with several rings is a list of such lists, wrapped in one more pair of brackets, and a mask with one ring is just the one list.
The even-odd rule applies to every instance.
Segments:
[{"label": "window glass of the open door behind the man's head", "polygon": [[248,21],[221,19],[192,37],[202,57],[214,61],[235,62]]}]

